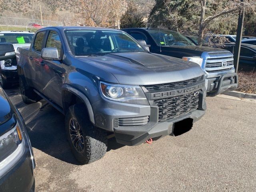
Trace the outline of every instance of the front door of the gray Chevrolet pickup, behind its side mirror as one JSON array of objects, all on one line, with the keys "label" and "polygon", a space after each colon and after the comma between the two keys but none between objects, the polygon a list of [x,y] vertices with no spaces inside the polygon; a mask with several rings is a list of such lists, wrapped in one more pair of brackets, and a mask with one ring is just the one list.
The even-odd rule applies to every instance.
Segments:
[{"label": "front door of the gray Chevrolet pickup, behind its side mirror", "polygon": [[[59,57],[63,58],[63,42],[56,30],[48,30],[46,34],[46,48],[57,48]],[[64,68],[60,61],[42,59],[42,94],[50,98],[54,103],[62,106],[61,88],[64,79]]]}]

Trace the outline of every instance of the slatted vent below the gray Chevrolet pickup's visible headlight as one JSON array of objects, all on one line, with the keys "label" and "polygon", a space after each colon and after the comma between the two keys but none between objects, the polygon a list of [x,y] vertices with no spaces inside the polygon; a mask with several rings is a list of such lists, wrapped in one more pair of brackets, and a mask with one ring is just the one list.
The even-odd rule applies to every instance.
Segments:
[{"label": "slatted vent below the gray Chevrolet pickup's visible headlight", "polygon": [[141,126],[148,123],[149,117],[133,117],[133,118],[115,118],[114,127],[118,126]]}]

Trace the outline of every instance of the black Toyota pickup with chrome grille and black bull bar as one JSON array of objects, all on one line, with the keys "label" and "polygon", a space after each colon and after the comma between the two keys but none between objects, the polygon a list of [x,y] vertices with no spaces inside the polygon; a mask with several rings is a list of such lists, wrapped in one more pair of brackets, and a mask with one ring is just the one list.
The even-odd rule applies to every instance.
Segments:
[{"label": "black Toyota pickup with chrome grille and black bull bar", "polygon": [[[233,65],[233,54],[227,50],[195,46],[188,38],[172,30],[158,28],[122,29],[136,40],[150,46],[150,52],[196,62],[205,72],[209,96],[227,89],[235,90],[238,76]],[[143,43],[142,43],[143,44]]]}]

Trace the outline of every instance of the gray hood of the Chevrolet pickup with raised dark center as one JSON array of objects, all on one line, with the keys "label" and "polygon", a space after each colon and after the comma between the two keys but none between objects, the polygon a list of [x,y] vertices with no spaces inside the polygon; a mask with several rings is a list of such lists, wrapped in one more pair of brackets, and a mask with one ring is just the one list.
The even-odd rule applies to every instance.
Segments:
[{"label": "gray hood of the Chevrolet pickup with raised dark center", "polygon": [[112,73],[120,84],[162,84],[204,74],[194,62],[147,52],[115,53],[79,59]]}]

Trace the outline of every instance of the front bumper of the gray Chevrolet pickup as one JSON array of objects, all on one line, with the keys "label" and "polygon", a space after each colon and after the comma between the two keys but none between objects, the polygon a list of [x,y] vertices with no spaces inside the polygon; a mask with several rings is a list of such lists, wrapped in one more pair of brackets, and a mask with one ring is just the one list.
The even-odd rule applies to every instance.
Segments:
[{"label": "front bumper of the gray Chevrolet pickup", "polygon": [[[120,144],[134,146],[141,144],[149,138],[159,139],[172,134],[174,123],[184,119],[192,119],[192,122],[199,120],[206,110],[206,90],[204,84],[199,94],[198,109],[192,110],[175,118],[158,121],[158,106],[142,106],[112,102],[102,98],[101,101],[92,105],[94,110],[95,126],[114,132],[116,141]],[[140,126],[116,126],[115,120],[122,118],[149,117],[149,121]],[[138,121],[131,122],[137,123]]]}]

